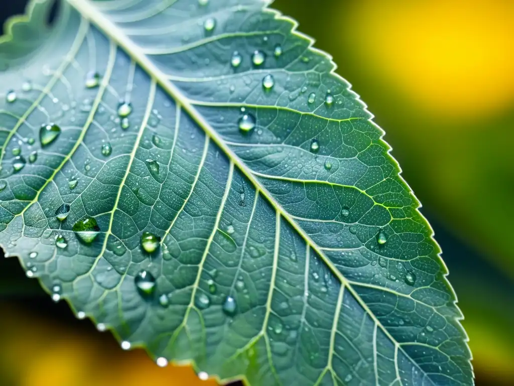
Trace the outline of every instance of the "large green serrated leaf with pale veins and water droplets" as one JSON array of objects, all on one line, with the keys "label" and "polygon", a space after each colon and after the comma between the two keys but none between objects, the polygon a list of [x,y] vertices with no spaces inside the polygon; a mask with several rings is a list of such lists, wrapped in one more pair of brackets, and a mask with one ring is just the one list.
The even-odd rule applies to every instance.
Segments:
[{"label": "large green serrated leaf with pale veins and water droplets", "polygon": [[51,3],[0,44],[0,243],[54,300],[221,381],[473,383],[419,203],[294,21]]}]

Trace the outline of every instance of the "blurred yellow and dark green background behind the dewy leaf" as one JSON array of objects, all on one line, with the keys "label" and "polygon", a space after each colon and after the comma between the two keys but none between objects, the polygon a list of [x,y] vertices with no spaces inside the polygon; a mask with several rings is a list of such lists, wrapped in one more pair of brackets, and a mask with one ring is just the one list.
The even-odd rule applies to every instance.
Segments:
[{"label": "blurred yellow and dark green background behind the dewy leaf", "polygon": [[[514,384],[514,1],[273,6],[333,55],[386,130],[443,247],[476,384]],[[122,352],[66,307],[30,296],[0,302],[2,385],[214,384],[188,367],[160,369],[143,352]]]}]

